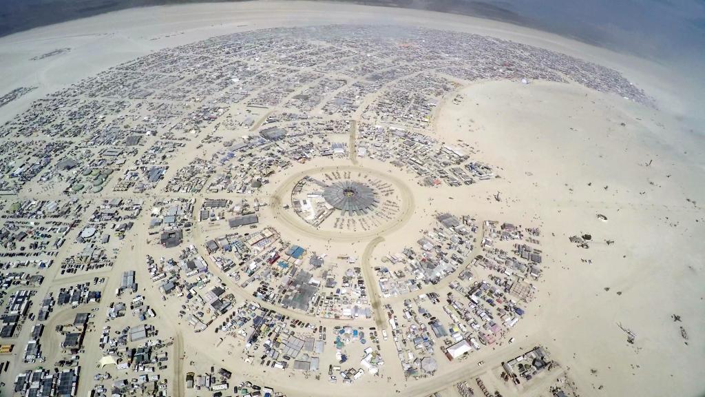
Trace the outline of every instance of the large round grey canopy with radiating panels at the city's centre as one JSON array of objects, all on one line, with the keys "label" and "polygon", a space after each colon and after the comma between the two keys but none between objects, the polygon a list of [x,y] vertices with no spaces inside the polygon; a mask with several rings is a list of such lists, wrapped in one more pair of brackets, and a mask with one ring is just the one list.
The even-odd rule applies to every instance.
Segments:
[{"label": "large round grey canopy with radiating panels at the city's centre", "polygon": [[331,184],[323,191],[323,197],[341,215],[364,215],[377,205],[377,195],[367,184],[341,181]]}]

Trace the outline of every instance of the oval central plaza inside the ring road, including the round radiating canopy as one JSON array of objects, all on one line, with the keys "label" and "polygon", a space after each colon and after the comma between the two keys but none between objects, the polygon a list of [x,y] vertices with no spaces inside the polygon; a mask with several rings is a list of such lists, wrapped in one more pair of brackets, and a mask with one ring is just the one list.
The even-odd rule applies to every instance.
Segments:
[{"label": "oval central plaza inside the ring road, including the round radiating canopy", "polygon": [[359,240],[401,227],[413,213],[414,198],[389,172],[336,165],[291,175],[271,204],[283,225],[309,236]]}]

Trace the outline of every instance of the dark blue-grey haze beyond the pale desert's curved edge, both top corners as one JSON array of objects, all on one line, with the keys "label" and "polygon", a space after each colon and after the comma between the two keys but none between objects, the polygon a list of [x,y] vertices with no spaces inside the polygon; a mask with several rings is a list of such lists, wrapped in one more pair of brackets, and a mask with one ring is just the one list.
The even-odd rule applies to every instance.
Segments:
[{"label": "dark blue-grey haze beyond the pale desert's curved edge, both top corners", "polygon": [[[674,58],[684,58],[683,61],[705,58],[705,0],[338,1],[367,4],[393,1],[412,8],[441,10],[453,8],[453,4],[464,4],[465,7],[460,8],[466,12],[494,9],[499,11],[495,13],[498,18],[515,14],[517,20],[530,20],[534,28],[642,57],[670,61]],[[0,0],[0,34],[6,30],[23,30],[32,24],[76,18],[77,14],[71,13],[75,9],[93,9],[92,13],[97,13],[136,5],[184,2],[188,0]],[[503,14],[503,11],[509,12]],[[3,23],[8,29],[2,29]]]}]

